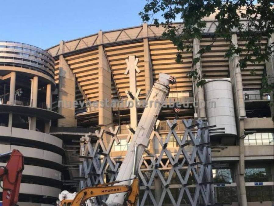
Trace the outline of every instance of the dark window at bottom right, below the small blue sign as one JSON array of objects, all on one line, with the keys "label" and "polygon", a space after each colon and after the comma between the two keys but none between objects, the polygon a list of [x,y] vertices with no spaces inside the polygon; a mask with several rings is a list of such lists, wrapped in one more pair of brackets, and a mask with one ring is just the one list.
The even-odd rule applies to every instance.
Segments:
[{"label": "dark window at bottom right, below the small blue sign", "polygon": [[247,202],[273,201],[273,186],[246,186]]}]

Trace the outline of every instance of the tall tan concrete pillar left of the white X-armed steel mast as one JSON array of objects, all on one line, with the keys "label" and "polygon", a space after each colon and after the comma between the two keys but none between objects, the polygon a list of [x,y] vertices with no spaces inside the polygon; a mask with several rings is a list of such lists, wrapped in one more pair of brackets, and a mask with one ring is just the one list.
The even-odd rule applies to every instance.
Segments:
[{"label": "tall tan concrete pillar left of the white X-armed steel mast", "polygon": [[[98,65],[98,124],[104,125],[106,131],[112,126],[112,108],[111,108],[111,69],[105,55],[103,45],[98,46],[99,65]],[[103,105],[102,105],[103,103]],[[103,140],[109,143],[110,136],[104,134]]]}]

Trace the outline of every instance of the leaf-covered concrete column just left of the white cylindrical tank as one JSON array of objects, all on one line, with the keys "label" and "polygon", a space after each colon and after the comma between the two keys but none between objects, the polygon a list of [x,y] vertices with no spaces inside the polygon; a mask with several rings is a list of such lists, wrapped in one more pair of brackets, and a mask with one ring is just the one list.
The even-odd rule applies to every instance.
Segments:
[{"label": "leaf-covered concrete column just left of the white cylindrical tank", "polygon": [[[198,54],[198,51],[200,50],[200,40],[194,38],[193,39],[193,58],[200,58],[200,54]],[[197,72],[202,76],[202,65],[201,60],[197,62],[197,64],[193,68],[194,70],[197,70]],[[204,95],[204,89],[202,87],[197,88],[196,86],[197,80],[194,81],[193,85],[193,92],[195,96],[195,101],[198,102],[198,108],[196,108],[196,112],[198,113],[199,119],[205,119],[205,95]]]}]

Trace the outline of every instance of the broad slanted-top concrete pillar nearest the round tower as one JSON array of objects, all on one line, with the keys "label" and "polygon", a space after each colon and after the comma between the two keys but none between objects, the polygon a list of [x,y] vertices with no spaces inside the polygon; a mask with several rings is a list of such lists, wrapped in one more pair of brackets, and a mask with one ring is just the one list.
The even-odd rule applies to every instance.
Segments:
[{"label": "broad slanted-top concrete pillar nearest the round tower", "polygon": [[58,126],[75,127],[75,74],[63,55],[59,56],[58,113],[66,117],[58,120]]}]

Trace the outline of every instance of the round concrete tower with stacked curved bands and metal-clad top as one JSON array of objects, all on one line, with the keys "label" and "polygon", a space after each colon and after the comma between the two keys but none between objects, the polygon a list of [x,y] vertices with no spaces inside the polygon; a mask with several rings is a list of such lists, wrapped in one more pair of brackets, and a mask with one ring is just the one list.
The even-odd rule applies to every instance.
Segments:
[{"label": "round concrete tower with stacked curved bands and metal-clad top", "polygon": [[[25,157],[20,205],[52,205],[62,186],[62,140],[49,134],[54,60],[32,45],[0,41],[0,153]],[[0,160],[0,166],[7,159]],[[0,196],[2,189],[0,189]]]}]

